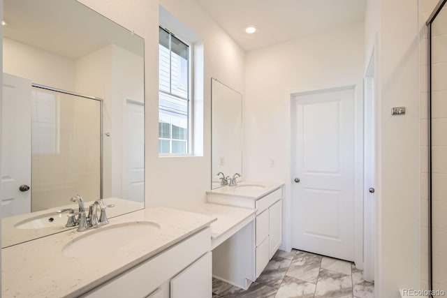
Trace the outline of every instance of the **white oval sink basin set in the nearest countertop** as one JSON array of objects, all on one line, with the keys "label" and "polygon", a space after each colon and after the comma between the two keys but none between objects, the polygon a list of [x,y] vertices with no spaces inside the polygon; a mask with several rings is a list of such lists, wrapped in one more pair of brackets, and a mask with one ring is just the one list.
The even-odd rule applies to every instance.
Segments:
[{"label": "white oval sink basin set in the nearest countertop", "polygon": [[105,225],[76,237],[62,248],[67,257],[98,258],[104,251],[119,253],[133,251],[141,245],[142,238],[160,233],[160,225],[151,221],[135,221],[117,225]]}]

